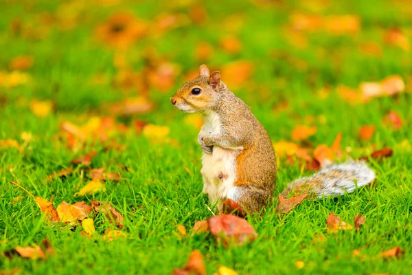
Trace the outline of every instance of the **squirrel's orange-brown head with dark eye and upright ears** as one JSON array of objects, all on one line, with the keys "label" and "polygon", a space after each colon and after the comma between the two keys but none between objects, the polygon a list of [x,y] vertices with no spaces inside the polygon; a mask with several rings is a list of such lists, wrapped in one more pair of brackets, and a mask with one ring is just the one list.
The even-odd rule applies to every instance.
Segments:
[{"label": "squirrel's orange-brown head with dark eye and upright ears", "polygon": [[183,84],[170,101],[185,113],[204,113],[214,106],[222,83],[218,71],[210,74],[206,65],[201,65],[200,76]]}]

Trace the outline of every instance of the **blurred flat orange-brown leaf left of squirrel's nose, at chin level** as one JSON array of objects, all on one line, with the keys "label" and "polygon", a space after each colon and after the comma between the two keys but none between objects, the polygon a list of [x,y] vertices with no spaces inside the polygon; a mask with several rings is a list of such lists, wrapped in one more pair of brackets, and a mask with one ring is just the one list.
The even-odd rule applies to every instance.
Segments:
[{"label": "blurred flat orange-brown leaf left of squirrel's nose, at chin level", "polygon": [[136,115],[150,113],[155,109],[155,105],[147,98],[126,98],[122,102],[112,104],[111,113],[114,115]]}]

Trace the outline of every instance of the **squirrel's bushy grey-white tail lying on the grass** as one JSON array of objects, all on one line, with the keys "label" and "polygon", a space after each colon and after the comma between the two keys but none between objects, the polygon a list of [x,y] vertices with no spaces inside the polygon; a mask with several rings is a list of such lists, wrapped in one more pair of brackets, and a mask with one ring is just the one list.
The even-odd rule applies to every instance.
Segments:
[{"label": "squirrel's bushy grey-white tail lying on the grass", "polygon": [[343,195],[345,190],[353,192],[356,186],[365,186],[374,179],[374,170],[371,170],[365,162],[332,164],[312,177],[303,177],[293,181],[281,195],[284,198],[302,194],[315,194],[317,197]]}]

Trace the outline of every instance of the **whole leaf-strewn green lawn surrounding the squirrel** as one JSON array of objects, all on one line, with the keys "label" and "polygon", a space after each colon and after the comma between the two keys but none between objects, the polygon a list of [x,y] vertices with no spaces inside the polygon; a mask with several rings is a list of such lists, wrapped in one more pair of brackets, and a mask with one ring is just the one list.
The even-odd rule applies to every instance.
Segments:
[{"label": "whole leaf-strewn green lawn surrounding the squirrel", "polygon": [[[238,274],[410,272],[407,0],[26,0],[0,9],[0,274],[171,274],[193,250],[207,274],[220,266]],[[175,109],[170,96],[203,63],[220,70],[279,149],[274,205],[247,217],[258,238],[239,247],[191,234],[217,213],[201,194],[201,118]],[[361,138],[365,125],[374,131]],[[312,131],[296,137],[297,126]],[[369,157],[374,184],[276,212],[288,182],[316,170],[306,165],[314,148],[339,133],[338,162],[391,148],[391,156]],[[76,194],[91,172],[105,181]],[[108,202],[124,221],[117,227],[92,211],[95,234],[87,234],[76,219],[49,221],[30,194],[54,208]],[[332,212],[352,226],[358,214],[366,222],[330,232]],[[54,250],[45,259],[15,250],[44,239]],[[396,247],[404,254],[381,256]]]}]

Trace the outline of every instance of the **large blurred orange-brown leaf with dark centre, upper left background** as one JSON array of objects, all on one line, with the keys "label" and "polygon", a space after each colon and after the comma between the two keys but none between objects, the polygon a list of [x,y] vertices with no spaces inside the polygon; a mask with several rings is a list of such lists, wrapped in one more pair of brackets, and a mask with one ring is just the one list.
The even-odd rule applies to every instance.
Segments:
[{"label": "large blurred orange-brown leaf with dark centre, upper left background", "polygon": [[147,31],[147,23],[137,19],[134,14],[117,12],[98,25],[95,35],[106,45],[126,50],[135,41],[145,36]]}]

